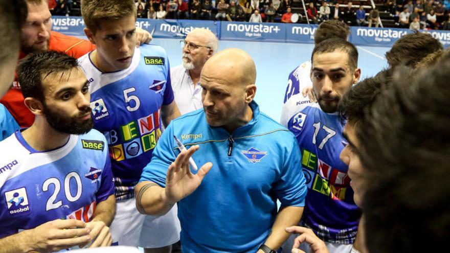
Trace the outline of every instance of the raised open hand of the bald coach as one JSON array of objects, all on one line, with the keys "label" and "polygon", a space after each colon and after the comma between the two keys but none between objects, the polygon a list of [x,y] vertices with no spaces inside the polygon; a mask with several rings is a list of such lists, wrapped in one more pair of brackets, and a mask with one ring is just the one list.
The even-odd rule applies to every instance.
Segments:
[{"label": "raised open hand of the bald coach", "polygon": [[166,197],[170,203],[178,202],[193,193],[213,166],[212,163],[206,163],[201,166],[197,174],[191,173],[189,157],[198,148],[198,146],[193,146],[188,150],[182,151],[176,157],[175,162],[169,166],[166,177]]}]

